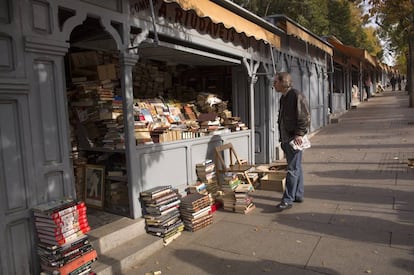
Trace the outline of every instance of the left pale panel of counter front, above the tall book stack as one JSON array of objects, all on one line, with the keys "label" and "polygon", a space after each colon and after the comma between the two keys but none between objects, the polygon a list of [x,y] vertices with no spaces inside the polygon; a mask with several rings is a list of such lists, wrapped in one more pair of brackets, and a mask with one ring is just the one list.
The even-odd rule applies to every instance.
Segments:
[{"label": "left pale panel of counter front, above the tall book stack", "polygon": [[176,148],[143,154],[143,190],[158,185],[182,187],[187,184],[187,149]]}]

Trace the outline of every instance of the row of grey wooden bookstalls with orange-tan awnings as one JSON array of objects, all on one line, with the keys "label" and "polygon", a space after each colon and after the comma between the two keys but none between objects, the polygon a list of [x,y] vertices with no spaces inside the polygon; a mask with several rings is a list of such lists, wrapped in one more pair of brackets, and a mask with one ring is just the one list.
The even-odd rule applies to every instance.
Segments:
[{"label": "row of grey wooden bookstalls with orange-tan awnings", "polygon": [[222,144],[282,159],[275,72],[306,94],[311,132],[350,108],[364,73],[384,81],[365,51],[227,0],[0,6],[2,274],[37,273],[36,205],[69,196],[136,219],[142,191],[183,193]]}]

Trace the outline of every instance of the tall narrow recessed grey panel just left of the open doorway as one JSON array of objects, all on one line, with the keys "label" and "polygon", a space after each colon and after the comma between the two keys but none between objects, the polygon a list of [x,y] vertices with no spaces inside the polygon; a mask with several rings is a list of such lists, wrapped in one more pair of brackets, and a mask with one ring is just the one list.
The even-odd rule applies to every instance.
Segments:
[{"label": "tall narrow recessed grey panel just left of the open doorway", "polygon": [[56,101],[56,81],[54,63],[51,61],[34,62],[35,77],[38,85],[41,134],[44,162],[61,162],[59,147],[59,113]]}]

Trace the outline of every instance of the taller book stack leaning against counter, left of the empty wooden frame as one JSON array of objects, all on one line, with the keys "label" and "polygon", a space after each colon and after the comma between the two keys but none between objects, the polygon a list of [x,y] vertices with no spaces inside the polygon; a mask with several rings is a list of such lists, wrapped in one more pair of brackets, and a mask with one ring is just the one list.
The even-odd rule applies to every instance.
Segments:
[{"label": "taller book stack leaning against counter, left of the empty wooden frame", "polygon": [[213,203],[215,203],[220,191],[215,169],[216,166],[211,159],[206,159],[202,163],[196,164],[197,178],[206,185],[206,190],[211,194]]}]

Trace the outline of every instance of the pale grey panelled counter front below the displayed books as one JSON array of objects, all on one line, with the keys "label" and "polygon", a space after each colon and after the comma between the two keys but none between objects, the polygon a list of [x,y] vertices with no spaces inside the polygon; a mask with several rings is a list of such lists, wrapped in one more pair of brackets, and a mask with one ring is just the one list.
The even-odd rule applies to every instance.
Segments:
[{"label": "pale grey panelled counter front below the displayed books", "polygon": [[215,148],[225,143],[232,143],[241,159],[252,158],[250,130],[137,146],[136,182],[143,190],[168,183],[182,193],[197,180],[196,164],[214,160]]}]

